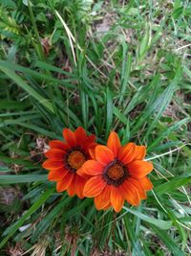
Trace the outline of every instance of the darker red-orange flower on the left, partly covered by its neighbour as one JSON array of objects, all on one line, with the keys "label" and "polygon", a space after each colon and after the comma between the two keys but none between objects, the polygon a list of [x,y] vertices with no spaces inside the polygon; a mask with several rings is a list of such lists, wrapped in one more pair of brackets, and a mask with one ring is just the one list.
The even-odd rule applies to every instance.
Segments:
[{"label": "darker red-orange flower on the left, partly covered by its neighbour", "polygon": [[57,192],[67,190],[69,196],[77,195],[83,198],[83,188],[87,177],[77,175],[81,166],[91,159],[89,150],[96,146],[95,135],[87,136],[81,127],[74,132],[69,128],[63,129],[65,143],[52,140],[50,150],[45,153],[49,158],[43,163],[43,168],[50,170],[49,180],[56,181]]}]

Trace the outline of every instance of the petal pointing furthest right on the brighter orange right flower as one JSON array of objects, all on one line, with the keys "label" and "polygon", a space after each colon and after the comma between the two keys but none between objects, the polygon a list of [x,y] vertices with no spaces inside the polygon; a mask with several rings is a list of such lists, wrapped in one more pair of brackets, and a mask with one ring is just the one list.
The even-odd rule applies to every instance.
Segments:
[{"label": "petal pointing furthest right on the brighter orange right flower", "polygon": [[136,160],[127,165],[130,175],[135,178],[141,178],[148,175],[153,170],[151,162]]}]

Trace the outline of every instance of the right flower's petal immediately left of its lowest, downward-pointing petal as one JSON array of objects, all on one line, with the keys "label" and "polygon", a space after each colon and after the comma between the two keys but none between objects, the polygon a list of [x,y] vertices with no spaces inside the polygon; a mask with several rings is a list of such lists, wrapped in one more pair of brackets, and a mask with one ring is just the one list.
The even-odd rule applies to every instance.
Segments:
[{"label": "right flower's petal immediately left of its lowest, downward-pointing petal", "polygon": [[104,209],[110,203],[111,186],[106,185],[102,192],[96,196],[95,205],[97,210]]}]

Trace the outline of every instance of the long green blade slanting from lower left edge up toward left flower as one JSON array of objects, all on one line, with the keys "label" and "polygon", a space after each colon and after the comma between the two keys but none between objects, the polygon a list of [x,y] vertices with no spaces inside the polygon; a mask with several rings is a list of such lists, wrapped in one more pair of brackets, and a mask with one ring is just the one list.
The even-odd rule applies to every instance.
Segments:
[{"label": "long green blade slanting from lower left edge up toward left flower", "polygon": [[26,221],[32,214],[48,199],[52,196],[54,188],[46,191],[43,195],[32,204],[32,207],[13,225],[9,226],[3,233],[3,235],[7,235],[0,243],[0,248],[6,244],[11,236],[16,232],[16,230]]}]

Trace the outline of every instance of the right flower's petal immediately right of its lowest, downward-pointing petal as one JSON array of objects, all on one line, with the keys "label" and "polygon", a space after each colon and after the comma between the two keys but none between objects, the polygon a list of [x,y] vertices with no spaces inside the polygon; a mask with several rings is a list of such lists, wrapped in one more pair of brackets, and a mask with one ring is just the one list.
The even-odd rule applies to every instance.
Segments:
[{"label": "right flower's petal immediately right of its lowest, downward-pointing petal", "polygon": [[128,179],[120,186],[121,194],[130,204],[138,206],[140,198],[137,188],[131,184]]}]

